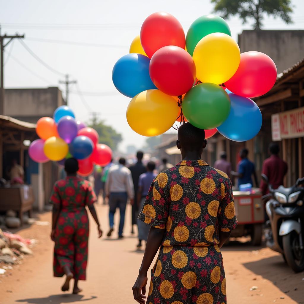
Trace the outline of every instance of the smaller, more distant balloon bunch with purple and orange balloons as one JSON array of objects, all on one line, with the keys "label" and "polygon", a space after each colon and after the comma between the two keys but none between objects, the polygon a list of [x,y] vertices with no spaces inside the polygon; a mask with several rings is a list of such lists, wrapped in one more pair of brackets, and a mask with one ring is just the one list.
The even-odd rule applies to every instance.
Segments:
[{"label": "smaller, more distant balloon bunch with purple and orange balloons", "polygon": [[75,120],[67,106],[57,108],[53,118],[40,118],[36,133],[40,139],[30,144],[29,156],[37,163],[57,161],[63,165],[67,158],[74,157],[79,163],[78,174],[88,176],[94,164],[106,166],[111,161],[111,148],[98,143],[98,133]]}]

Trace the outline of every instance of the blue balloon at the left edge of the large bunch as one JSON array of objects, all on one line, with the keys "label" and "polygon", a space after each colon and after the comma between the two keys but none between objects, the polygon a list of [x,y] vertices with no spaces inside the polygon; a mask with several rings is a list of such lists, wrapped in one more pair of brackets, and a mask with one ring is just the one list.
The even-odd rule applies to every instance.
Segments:
[{"label": "blue balloon at the left edge of the large bunch", "polygon": [[141,54],[127,54],[113,67],[112,80],[116,89],[130,98],[140,92],[157,89],[149,74],[150,58]]}]

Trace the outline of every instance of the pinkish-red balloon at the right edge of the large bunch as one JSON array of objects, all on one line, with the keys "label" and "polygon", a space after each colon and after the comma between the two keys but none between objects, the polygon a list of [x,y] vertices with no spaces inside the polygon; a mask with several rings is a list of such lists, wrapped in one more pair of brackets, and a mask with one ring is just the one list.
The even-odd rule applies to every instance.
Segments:
[{"label": "pinkish-red balloon at the right edge of the large bunch", "polygon": [[240,65],[225,86],[234,94],[253,98],[267,93],[276,79],[273,60],[264,53],[252,51],[241,54]]}]

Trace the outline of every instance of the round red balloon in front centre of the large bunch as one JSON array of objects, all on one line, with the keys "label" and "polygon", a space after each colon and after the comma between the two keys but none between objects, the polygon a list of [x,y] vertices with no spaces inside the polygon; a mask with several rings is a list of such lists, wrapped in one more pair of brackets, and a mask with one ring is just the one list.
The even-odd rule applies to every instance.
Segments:
[{"label": "round red balloon in front centre of the large bunch", "polygon": [[159,90],[167,95],[179,96],[192,88],[196,68],[187,51],[170,45],[154,53],[150,60],[149,73]]}]

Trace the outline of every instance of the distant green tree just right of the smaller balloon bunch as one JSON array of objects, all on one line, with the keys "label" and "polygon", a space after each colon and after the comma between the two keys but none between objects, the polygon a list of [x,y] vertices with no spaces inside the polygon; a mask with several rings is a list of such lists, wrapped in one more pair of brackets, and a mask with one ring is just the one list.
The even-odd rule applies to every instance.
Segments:
[{"label": "distant green tree just right of the smaller balloon bunch", "polygon": [[113,151],[117,149],[118,144],[123,140],[120,133],[117,133],[111,126],[104,124],[102,120],[94,120],[89,127],[95,129],[99,135],[99,142],[108,145]]}]

